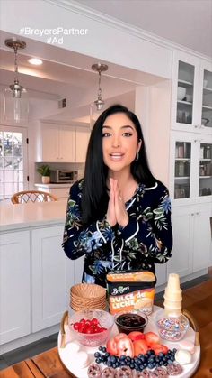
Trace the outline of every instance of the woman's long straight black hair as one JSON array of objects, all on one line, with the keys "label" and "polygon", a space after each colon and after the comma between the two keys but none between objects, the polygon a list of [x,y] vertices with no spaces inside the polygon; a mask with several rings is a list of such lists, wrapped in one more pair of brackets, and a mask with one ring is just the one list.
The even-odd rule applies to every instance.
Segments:
[{"label": "woman's long straight black hair", "polygon": [[84,171],[84,183],[82,193],[82,219],[84,225],[88,225],[97,219],[102,219],[108,207],[109,196],[107,192],[106,180],[108,167],[104,164],[102,153],[102,125],[109,115],[124,113],[132,121],[137,130],[137,142],[142,141],[137,160],[131,163],[131,173],[137,182],[142,182],[146,186],[155,184],[155,178],[151,173],[146,157],[146,147],[141,130],[141,124],[137,115],[129,111],[127,107],[113,105],[104,110],[93,125],[90,141],[87,149],[87,156]]}]

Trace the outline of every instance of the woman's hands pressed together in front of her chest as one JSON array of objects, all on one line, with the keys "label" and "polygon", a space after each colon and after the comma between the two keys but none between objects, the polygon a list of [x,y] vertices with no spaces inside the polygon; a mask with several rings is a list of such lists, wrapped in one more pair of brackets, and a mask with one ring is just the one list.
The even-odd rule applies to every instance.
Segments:
[{"label": "woman's hands pressed together in front of her chest", "polygon": [[121,198],[118,180],[110,178],[110,198],[108,203],[107,220],[110,226],[125,227],[128,225],[128,212],[125,208],[123,198]]}]

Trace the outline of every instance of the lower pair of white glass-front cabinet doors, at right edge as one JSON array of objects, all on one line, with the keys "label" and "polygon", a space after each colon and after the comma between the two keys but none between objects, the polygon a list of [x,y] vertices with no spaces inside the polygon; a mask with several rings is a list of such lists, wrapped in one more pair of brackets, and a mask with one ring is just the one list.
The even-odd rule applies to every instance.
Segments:
[{"label": "lower pair of white glass-front cabinet doors, at right edge", "polygon": [[212,138],[172,132],[171,153],[171,197],[183,202],[211,201]]}]

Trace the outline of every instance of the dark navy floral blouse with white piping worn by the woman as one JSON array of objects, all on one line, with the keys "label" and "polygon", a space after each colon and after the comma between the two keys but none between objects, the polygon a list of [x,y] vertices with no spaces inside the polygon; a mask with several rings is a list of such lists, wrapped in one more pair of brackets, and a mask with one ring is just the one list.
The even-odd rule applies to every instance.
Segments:
[{"label": "dark navy floral blouse with white piping worn by the woman", "polygon": [[160,181],[137,185],[125,204],[129,222],[110,227],[106,215],[85,228],[80,204],[83,180],[75,182],[67,201],[63,248],[75,260],[84,258],[83,282],[106,286],[106,274],[116,270],[148,270],[171,257],[172,225],[168,189]]}]

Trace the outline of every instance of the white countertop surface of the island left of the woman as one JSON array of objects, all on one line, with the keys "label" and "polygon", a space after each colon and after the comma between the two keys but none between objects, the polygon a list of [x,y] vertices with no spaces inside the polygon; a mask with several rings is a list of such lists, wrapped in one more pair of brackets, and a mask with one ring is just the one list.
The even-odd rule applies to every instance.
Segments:
[{"label": "white countertop surface of the island left of the woman", "polygon": [[54,202],[0,204],[0,231],[65,223],[66,199]]}]

